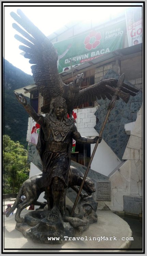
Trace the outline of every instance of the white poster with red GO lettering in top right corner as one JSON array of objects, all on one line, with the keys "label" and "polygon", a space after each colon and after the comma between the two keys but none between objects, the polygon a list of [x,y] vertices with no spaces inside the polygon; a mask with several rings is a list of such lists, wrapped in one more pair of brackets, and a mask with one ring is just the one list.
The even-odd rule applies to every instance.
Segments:
[{"label": "white poster with red GO lettering in top right corner", "polygon": [[142,7],[126,10],[126,26],[129,46],[142,43]]}]

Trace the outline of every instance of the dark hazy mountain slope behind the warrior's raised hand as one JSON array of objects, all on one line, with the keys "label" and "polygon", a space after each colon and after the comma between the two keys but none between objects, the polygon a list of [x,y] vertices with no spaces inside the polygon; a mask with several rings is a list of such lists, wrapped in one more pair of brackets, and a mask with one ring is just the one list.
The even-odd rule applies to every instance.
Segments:
[{"label": "dark hazy mountain slope behind the warrior's raised hand", "polygon": [[8,134],[13,141],[19,141],[27,148],[26,142],[28,117],[23,106],[17,101],[14,90],[33,84],[31,75],[26,74],[4,60],[4,134]]}]

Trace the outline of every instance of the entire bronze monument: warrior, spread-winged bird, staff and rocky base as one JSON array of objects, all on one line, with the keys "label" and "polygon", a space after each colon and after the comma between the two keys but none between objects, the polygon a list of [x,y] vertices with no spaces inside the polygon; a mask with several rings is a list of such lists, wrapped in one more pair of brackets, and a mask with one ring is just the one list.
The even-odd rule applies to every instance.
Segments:
[{"label": "entire bronze monument: warrior, spread-winged bird, staff and rocky base", "polygon": [[[34,183],[35,200],[38,199],[41,191],[45,191],[48,208],[44,208],[44,211],[28,213],[25,215],[25,219],[22,219],[20,218],[20,212],[27,206],[26,200],[22,207],[18,206],[15,218],[17,222],[16,228],[34,241],[49,243],[49,241],[46,242],[46,237],[55,236],[60,237],[59,243],[62,243],[61,238],[64,234],[69,236],[79,235],[88,228],[89,224],[97,222],[96,210],[98,204],[93,200],[91,194],[81,198],[78,202],[82,188],[86,190],[85,184],[87,180],[85,175],[87,175],[88,169],[81,181],[79,174],[73,175],[70,163],[72,139],[75,139],[78,143],[96,143],[95,146],[97,147],[102,140],[102,132],[100,136],[94,139],[82,137],[72,119],[73,108],[85,102],[94,101],[96,98],[113,100],[113,105],[115,100],[119,98],[127,103],[130,95],[135,96],[138,90],[125,84],[124,76],[119,82],[113,78],[105,79],[80,90],[84,76],[82,73],[77,75],[72,83],[64,84],[58,73],[58,56],[54,45],[34,26],[23,12],[17,10],[17,14],[12,12],[11,16],[25,30],[14,23],[13,27],[23,35],[23,37],[15,35],[15,38],[26,45],[20,45],[19,48],[25,52],[24,57],[30,59],[29,62],[33,64],[31,69],[35,85],[38,87],[45,102],[41,111],[46,114],[46,116],[43,116],[36,113],[24,95],[15,93],[18,101],[23,104],[28,114],[41,125],[36,148],[41,156],[43,173],[27,181],[26,184]],[[111,111],[112,107],[111,104],[109,111]],[[69,114],[69,119],[67,114]],[[106,116],[106,120],[108,115],[109,113]],[[94,153],[92,153],[91,157],[93,155]],[[39,185],[37,182],[39,182]],[[67,211],[65,205],[65,195],[69,184],[71,184],[71,187],[72,184],[80,186],[80,189],[75,189],[78,193],[75,202],[78,203],[77,207],[74,204],[72,211],[70,209]],[[20,188],[17,197],[20,196],[21,191],[22,189]],[[31,189],[29,191],[31,195]],[[30,195],[28,198],[32,203]],[[17,201],[19,201],[18,198]],[[21,222],[23,222],[22,226]],[[29,227],[27,227],[27,230],[23,229],[25,225],[30,225],[30,229]]]}]

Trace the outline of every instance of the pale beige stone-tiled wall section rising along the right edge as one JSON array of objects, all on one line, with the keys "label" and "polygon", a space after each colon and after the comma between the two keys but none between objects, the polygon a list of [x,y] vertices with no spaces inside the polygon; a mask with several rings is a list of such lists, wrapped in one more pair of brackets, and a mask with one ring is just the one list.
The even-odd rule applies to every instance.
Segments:
[{"label": "pale beige stone-tiled wall section rising along the right edge", "polygon": [[142,211],[142,108],[139,110],[126,150],[126,160],[109,175],[111,181],[111,202],[99,203],[112,211],[139,214]]}]

